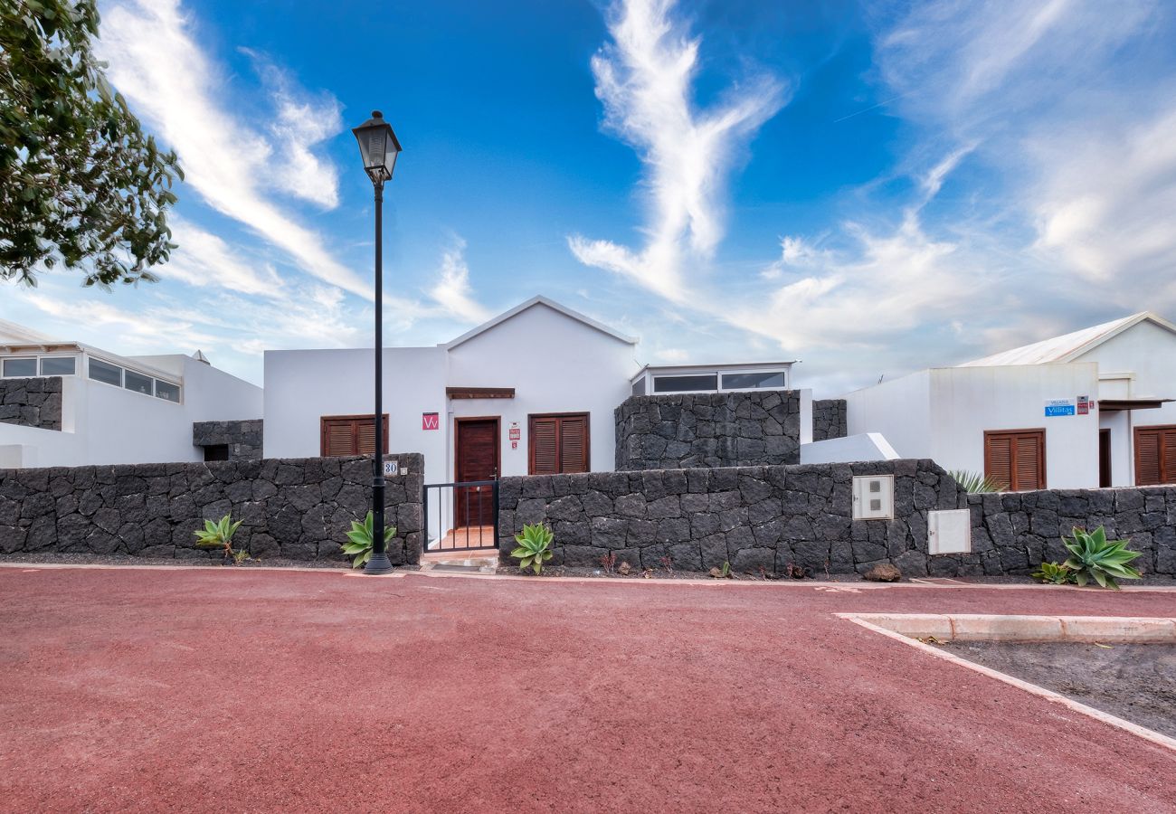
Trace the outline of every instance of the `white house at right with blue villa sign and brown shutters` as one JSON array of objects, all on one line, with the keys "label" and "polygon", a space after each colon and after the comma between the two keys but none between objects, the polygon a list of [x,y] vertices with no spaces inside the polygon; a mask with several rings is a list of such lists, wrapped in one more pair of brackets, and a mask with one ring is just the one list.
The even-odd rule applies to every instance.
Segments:
[{"label": "white house at right with blue villa sign and brown shutters", "polygon": [[1014,489],[1176,482],[1176,326],[1141,313],[846,396],[850,435]]}]

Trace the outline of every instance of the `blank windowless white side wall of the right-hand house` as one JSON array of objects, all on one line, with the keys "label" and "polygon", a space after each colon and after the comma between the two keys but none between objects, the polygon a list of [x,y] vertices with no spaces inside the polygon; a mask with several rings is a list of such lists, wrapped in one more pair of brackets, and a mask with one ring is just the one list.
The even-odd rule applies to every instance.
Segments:
[{"label": "blank windowless white side wall of the right-hand house", "polygon": [[880,433],[902,458],[930,458],[930,371],[848,394],[846,428],[848,435]]}]

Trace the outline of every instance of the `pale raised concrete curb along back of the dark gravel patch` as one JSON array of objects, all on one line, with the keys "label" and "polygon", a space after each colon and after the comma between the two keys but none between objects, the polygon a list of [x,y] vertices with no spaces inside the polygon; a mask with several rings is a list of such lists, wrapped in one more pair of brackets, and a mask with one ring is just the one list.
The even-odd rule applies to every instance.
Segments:
[{"label": "pale raised concrete curb along back of the dark gravel patch", "polygon": [[1176,619],[1141,616],[1005,616],[997,614],[840,613],[913,639],[940,641],[1075,641],[1176,643]]}]

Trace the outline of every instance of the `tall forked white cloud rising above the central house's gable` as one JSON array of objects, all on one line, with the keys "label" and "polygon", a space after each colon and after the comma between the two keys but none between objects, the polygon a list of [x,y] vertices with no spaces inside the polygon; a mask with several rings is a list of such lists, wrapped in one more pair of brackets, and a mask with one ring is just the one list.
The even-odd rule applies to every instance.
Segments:
[{"label": "tall forked white cloud rising above the central house's gable", "polygon": [[646,171],[646,243],[633,251],[572,235],[588,266],[623,274],[675,302],[688,268],[709,260],[723,236],[724,186],[742,149],[779,111],[784,87],[767,74],[733,85],[721,101],[694,101],[701,40],[674,18],[674,0],[619,0],[608,12],[613,41],[593,56],[604,127],[632,145]]}]

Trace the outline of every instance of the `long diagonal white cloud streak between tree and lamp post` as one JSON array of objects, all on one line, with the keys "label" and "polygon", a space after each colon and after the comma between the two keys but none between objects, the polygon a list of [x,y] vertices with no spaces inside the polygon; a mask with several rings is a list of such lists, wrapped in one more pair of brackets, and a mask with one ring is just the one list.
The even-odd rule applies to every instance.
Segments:
[{"label": "long diagonal white cloud streak between tree and lamp post", "polygon": [[[179,153],[187,188],[196,189],[214,209],[286,252],[307,274],[370,299],[370,285],[336,261],[320,234],[298,222],[268,195],[281,186],[296,188],[302,198],[333,205],[334,181],[327,182],[325,189],[308,185],[333,176],[329,166],[313,156],[310,147],[338,126],[338,105],[334,119],[295,126],[301,95],[287,84],[286,96],[276,100],[276,126],[283,128],[281,135],[292,140],[293,148],[286,141],[270,144],[222,104],[226,84],[218,66],[193,40],[191,28],[178,0],[125,0],[105,9],[99,53],[109,62],[112,82]],[[268,111],[258,115],[272,118]],[[280,179],[281,173],[289,175]]]}]

